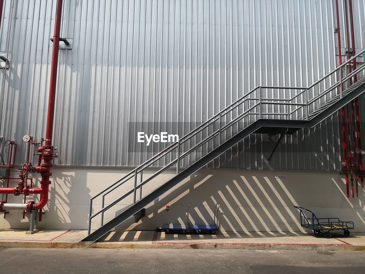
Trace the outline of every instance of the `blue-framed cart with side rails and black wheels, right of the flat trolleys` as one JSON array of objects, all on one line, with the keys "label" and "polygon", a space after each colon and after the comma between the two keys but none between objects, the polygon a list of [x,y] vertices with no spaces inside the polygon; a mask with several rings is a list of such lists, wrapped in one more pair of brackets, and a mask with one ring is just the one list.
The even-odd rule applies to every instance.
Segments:
[{"label": "blue-framed cart with side rails and black wheels, right of the flat trolleys", "polygon": [[[313,230],[315,235],[324,233],[326,238],[331,237],[330,231],[342,230],[343,235],[350,236],[349,229],[354,229],[354,222],[341,221],[339,218],[317,218],[313,211],[294,206],[300,211],[300,225],[304,228]],[[311,213],[311,217],[307,217],[303,210]],[[307,213],[308,214],[308,213]]]}]

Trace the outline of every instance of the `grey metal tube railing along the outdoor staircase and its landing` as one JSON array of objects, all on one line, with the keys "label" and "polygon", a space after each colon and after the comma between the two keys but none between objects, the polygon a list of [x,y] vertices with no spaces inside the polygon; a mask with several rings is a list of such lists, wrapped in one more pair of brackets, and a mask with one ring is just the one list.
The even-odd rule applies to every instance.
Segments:
[{"label": "grey metal tube railing along the outdoor staircase and its landing", "polygon": [[[176,167],[176,174],[178,174],[181,168],[181,161],[185,157],[191,155],[192,152],[196,151],[198,148],[201,148],[204,144],[207,144],[212,140],[214,144],[214,141],[216,141],[215,139],[216,137],[218,137],[217,144],[218,145],[222,144],[224,142],[224,140],[222,139],[224,137],[223,133],[226,132],[226,130],[231,128],[232,126],[237,125],[239,121],[242,121],[243,119],[249,117],[249,115],[254,116],[252,122],[262,118],[269,119],[269,117],[272,117],[272,119],[293,119],[293,117],[296,119],[305,119],[305,120],[311,119],[311,117],[313,117],[316,114],[315,111],[317,109],[320,109],[321,106],[325,106],[327,102],[331,103],[332,101],[330,102],[330,100],[339,99],[342,98],[342,96],[346,95],[343,94],[343,91],[345,90],[343,86],[346,84],[347,81],[353,79],[355,76],[357,76],[358,79],[363,79],[365,77],[364,75],[365,64],[358,66],[354,71],[347,74],[346,76],[343,76],[343,68],[345,68],[345,66],[350,66],[352,64],[352,61],[355,58],[361,56],[363,53],[365,53],[365,50],[362,50],[356,56],[344,62],[341,66],[338,66],[333,71],[327,73],[325,76],[315,81],[309,87],[275,87],[275,86],[260,85],[255,87],[253,90],[249,91],[247,94],[241,96],[239,99],[229,104],[219,113],[215,114],[213,117],[211,117],[207,121],[203,122],[201,125],[197,126],[195,129],[185,134],[182,138],[179,139],[178,142],[174,142],[173,144],[167,146],[161,152],[157,153],[156,155],[145,161],[143,164],[134,168],[132,171],[128,172],[128,174],[126,174],[125,176],[123,176],[122,178],[120,178],[119,180],[117,180],[116,182],[114,182],[113,184],[111,184],[110,186],[106,187],[104,190],[100,191],[98,194],[93,196],[90,199],[88,234],[90,234],[91,232],[91,222],[93,218],[95,218],[100,214],[101,226],[103,226],[105,211],[107,211],[112,206],[116,205],[118,202],[122,201],[124,198],[128,197],[131,194],[133,194],[133,204],[135,204],[137,202],[137,190],[139,190],[139,200],[140,200],[142,199],[142,187],[146,183],[150,182],[152,179],[156,178],[158,175],[160,175],[162,172],[164,172],[170,167]],[[330,77],[333,78],[333,76],[335,76],[336,79],[335,82],[331,84],[329,87],[327,87],[324,91],[319,92],[320,84],[323,83],[325,87],[326,80]],[[331,80],[332,79],[330,78],[329,81],[331,82]],[[309,97],[310,91],[312,90],[312,94],[315,94],[316,87],[318,90],[318,94],[310,98]],[[262,95],[263,90],[276,90],[278,98],[263,97]],[[300,90],[300,92],[297,92],[295,95],[291,96],[292,90]],[[280,91],[287,91],[284,94],[285,98],[280,98]],[[319,100],[324,98],[324,96],[329,95],[330,92],[335,92],[335,94],[334,95],[332,94],[332,96],[330,96],[330,99],[328,99],[327,101],[325,100],[324,103],[321,103]],[[300,95],[301,98],[299,98]],[[298,99],[300,99],[299,100],[300,102],[297,102]],[[293,100],[295,100],[295,102],[293,102]],[[316,108],[315,103],[317,103],[319,107]],[[265,108],[266,112],[263,108],[264,105],[266,105]],[[268,110],[269,105],[273,106],[272,112]],[[231,121],[229,122],[223,121],[224,119],[228,120],[228,114],[231,114],[235,109],[237,109],[240,106],[242,106],[242,108],[245,108],[245,111],[241,112],[237,110],[237,117],[231,119]],[[277,112],[275,112],[274,106],[277,106],[278,110]],[[214,125],[216,123],[218,123],[218,129],[214,130]],[[207,137],[203,138],[197,144],[193,145],[186,151],[183,151],[182,147],[187,141],[197,136],[197,134],[202,133],[203,130],[208,130],[208,128],[210,127],[212,128],[211,134],[209,135],[207,134],[208,135]],[[212,151],[213,149],[214,148],[212,146],[210,151]],[[171,154],[175,155],[176,157],[174,157],[172,161],[164,165],[154,174],[150,175],[148,178],[145,178],[143,180],[143,171],[146,168],[151,167],[158,160],[161,160],[168,155],[171,156]],[[138,180],[138,174],[139,174],[139,180]],[[111,203],[108,203],[108,205],[105,206],[105,196],[131,179],[133,179],[133,187],[126,193],[124,193],[122,196],[115,199]],[[96,213],[92,214],[93,200],[100,196],[101,196],[101,209]]]}]

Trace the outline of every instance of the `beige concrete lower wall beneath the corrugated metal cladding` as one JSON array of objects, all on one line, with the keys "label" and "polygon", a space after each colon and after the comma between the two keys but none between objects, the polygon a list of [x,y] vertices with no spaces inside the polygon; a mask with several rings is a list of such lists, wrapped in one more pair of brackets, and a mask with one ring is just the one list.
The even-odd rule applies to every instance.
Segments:
[{"label": "beige concrete lower wall beneath the corrugated metal cladding", "polygon": [[[52,170],[50,201],[40,227],[44,229],[87,229],[89,199],[100,190],[122,177],[129,170],[120,168],[70,168]],[[145,172],[152,174],[155,170]],[[142,196],[173,176],[174,170],[146,184]],[[287,175],[276,179],[275,175]],[[15,184],[13,182],[12,184]],[[106,197],[109,203],[131,189],[133,182],[120,187]],[[169,193],[162,195],[146,209],[146,217],[137,224],[132,219],[118,228],[155,229],[164,223],[186,222],[186,210],[191,206],[191,223],[212,223],[215,203],[221,204],[219,220],[225,231],[301,231],[299,212],[293,205],[313,210],[317,217],[339,217],[354,221],[356,231],[365,231],[365,191],[359,198],[345,197],[342,175],[331,172],[250,171],[203,169]],[[137,193],[137,197],[139,197]],[[118,204],[105,214],[110,220],[132,200]],[[9,202],[22,202],[22,197],[9,196]],[[95,200],[93,211],[99,210],[101,199]],[[166,212],[166,205],[170,206]],[[95,218],[93,228],[100,225]],[[0,228],[28,228],[28,218],[12,211],[0,218]]]}]

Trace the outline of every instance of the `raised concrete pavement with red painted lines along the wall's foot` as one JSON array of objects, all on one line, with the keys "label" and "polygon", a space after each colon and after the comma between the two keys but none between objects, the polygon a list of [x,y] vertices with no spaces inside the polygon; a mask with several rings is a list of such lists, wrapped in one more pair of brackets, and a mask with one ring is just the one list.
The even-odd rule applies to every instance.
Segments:
[{"label": "raised concrete pavement with red painted lines along the wall's foot", "polygon": [[166,234],[155,231],[111,231],[97,243],[80,243],[85,230],[45,230],[28,235],[25,230],[1,229],[0,247],[28,248],[170,248],[249,250],[365,250],[365,233],[323,234],[303,232],[224,232]]}]

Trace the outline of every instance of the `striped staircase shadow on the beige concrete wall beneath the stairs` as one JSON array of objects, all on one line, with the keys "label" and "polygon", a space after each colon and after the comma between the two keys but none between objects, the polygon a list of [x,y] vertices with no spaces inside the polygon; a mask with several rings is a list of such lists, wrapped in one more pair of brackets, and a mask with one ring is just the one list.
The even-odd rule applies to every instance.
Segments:
[{"label": "striped staircase shadow on the beige concrete wall beneath the stairs", "polygon": [[[147,207],[137,224],[130,218],[116,229],[150,230],[163,224],[213,224],[213,210],[220,202],[220,230],[232,232],[292,232],[300,227],[293,205],[313,210],[317,217],[354,221],[355,231],[365,231],[364,190],[359,199],[348,199],[345,184],[335,173],[287,172],[277,179],[270,171],[201,170]],[[169,211],[166,211],[169,205]],[[121,213],[119,210],[116,214]],[[345,220],[346,219],[346,220]]]}]

